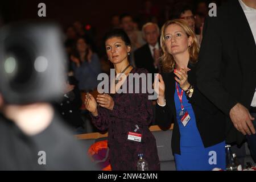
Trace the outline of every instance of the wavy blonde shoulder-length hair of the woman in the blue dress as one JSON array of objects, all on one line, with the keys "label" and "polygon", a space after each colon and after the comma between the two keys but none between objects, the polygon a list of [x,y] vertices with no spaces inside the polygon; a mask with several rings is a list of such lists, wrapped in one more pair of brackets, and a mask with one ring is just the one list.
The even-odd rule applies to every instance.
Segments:
[{"label": "wavy blonde shoulder-length hair of the woman in the blue dress", "polygon": [[168,52],[166,44],[164,43],[165,42],[164,35],[166,32],[166,28],[170,26],[170,24],[179,25],[181,28],[183,28],[187,36],[188,37],[191,36],[192,38],[191,46],[188,48],[189,63],[196,63],[197,57],[199,54],[199,43],[197,41],[195,32],[192,31],[192,29],[188,26],[188,24],[182,19],[168,20],[166,23],[164,23],[163,27],[161,28],[161,36],[160,36],[160,44],[163,49],[163,56],[161,57],[161,60],[162,60],[161,65],[162,65],[163,72],[172,72],[175,67],[174,56],[172,56]]}]

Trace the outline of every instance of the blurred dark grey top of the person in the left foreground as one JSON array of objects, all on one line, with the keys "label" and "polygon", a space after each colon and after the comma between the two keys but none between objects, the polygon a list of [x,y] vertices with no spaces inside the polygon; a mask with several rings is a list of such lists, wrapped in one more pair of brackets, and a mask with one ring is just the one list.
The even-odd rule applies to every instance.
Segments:
[{"label": "blurred dark grey top of the person in the left foreground", "polygon": [[[0,170],[95,169],[87,156],[89,146],[80,146],[56,116],[47,129],[28,137],[0,115],[0,135]],[[39,151],[46,152],[46,165],[38,164]]]}]

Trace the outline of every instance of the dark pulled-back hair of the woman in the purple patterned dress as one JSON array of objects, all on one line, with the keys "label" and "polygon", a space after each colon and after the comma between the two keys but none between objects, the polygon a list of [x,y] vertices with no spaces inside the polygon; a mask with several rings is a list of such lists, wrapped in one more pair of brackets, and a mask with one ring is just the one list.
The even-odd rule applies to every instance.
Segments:
[{"label": "dark pulled-back hair of the woman in the purple patterned dress", "polygon": [[113,28],[106,33],[104,43],[110,38],[121,38],[126,46],[131,46],[131,40],[124,30],[121,28]]}]

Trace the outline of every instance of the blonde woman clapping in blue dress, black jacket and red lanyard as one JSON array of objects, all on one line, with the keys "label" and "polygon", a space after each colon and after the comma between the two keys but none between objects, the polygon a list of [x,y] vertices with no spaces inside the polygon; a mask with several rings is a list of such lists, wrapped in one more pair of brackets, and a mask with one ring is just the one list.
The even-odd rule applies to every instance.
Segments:
[{"label": "blonde woman clapping in blue dress, black jacket and red lanyard", "polygon": [[199,44],[195,33],[175,19],[162,27],[162,75],[156,118],[160,126],[174,123],[172,150],[177,170],[225,168],[225,123],[217,108],[196,87]]}]

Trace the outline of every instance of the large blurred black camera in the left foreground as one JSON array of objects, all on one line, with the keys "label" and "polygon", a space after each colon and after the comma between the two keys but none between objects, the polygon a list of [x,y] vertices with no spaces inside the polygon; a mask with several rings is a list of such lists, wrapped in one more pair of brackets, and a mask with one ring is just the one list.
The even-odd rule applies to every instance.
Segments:
[{"label": "large blurred black camera in the left foreground", "polygon": [[0,30],[0,92],[6,104],[61,97],[65,82],[61,31],[55,24],[16,23]]}]

